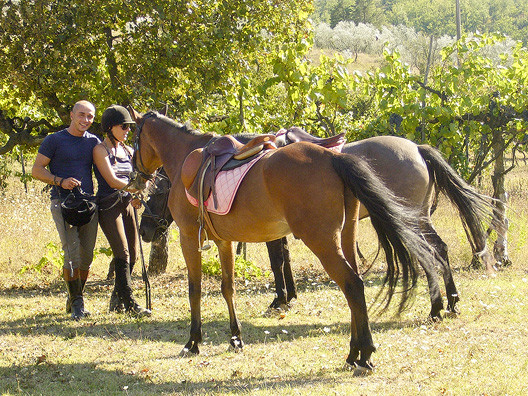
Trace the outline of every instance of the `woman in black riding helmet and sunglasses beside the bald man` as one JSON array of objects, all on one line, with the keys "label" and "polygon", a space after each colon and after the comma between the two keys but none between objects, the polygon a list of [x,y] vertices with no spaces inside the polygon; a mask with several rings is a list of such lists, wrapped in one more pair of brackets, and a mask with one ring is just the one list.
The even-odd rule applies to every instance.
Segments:
[{"label": "woman in black riding helmet and sunglasses beside the bald man", "polygon": [[99,225],[114,253],[115,286],[110,311],[125,310],[139,317],[150,316],[151,312],[134,300],[130,277],[138,242],[134,209],[141,206],[138,199],[123,191],[133,170],[132,149],[124,143],[131,124],[134,121],[124,107],[108,107],[101,120],[105,139],[94,147],[93,160],[99,184]]}]

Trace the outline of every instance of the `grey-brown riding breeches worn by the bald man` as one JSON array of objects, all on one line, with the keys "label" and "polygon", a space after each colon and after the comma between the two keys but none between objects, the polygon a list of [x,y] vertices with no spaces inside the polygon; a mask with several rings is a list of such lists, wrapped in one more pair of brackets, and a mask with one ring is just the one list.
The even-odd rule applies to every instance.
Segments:
[{"label": "grey-brown riding breeches worn by the bald man", "polygon": [[97,239],[97,213],[88,224],[81,227],[71,226],[64,221],[60,204],[60,199],[52,199],[50,209],[64,250],[63,267],[72,273],[77,268],[88,271],[93,261]]}]

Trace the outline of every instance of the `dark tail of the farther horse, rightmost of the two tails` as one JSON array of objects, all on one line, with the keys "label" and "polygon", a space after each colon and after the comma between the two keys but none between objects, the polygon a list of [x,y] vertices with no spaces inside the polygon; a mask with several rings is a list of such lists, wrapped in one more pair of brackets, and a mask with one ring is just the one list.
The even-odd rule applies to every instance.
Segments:
[{"label": "dark tail of the farther horse, rightmost of the two tails", "polygon": [[469,243],[477,255],[486,250],[487,233],[483,220],[493,217],[492,198],[478,193],[460,177],[444,159],[442,154],[429,145],[419,145],[418,151],[431,179],[438,190],[443,192],[455,205],[462,219]]}]

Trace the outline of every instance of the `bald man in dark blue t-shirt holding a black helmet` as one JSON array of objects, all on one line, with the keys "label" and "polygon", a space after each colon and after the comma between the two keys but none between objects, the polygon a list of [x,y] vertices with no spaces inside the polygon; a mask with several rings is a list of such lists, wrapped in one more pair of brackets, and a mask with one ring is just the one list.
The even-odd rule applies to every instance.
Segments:
[{"label": "bald man in dark blue t-shirt holding a black helmet", "polygon": [[93,195],[92,152],[100,143],[88,132],[95,117],[92,103],[81,100],[70,112],[68,128],[46,136],[42,142],[32,175],[51,188],[51,214],[64,250],[63,277],[68,290],[66,311],[80,320],[90,313],[84,309],[83,289],[93,260],[97,237],[97,213],[86,225],[74,227],[65,222],[60,204],[75,187]]}]

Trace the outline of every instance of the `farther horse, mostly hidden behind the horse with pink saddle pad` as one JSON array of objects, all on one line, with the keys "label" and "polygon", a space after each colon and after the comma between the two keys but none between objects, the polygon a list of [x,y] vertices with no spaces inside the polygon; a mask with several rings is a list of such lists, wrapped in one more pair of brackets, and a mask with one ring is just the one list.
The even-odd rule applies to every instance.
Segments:
[{"label": "farther horse, mostly hidden behind the horse with pink saddle pad", "polygon": [[[254,135],[235,135],[246,143]],[[436,191],[442,191],[454,203],[463,220],[473,252],[493,271],[493,260],[486,247],[486,233],[482,220],[491,216],[491,206],[487,196],[479,194],[469,186],[447,163],[438,150],[429,145],[395,136],[376,136],[343,147],[342,152],[365,159],[372,170],[381,178],[393,194],[408,207],[421,213],[420,227],[429,244],[441,258],[437,261],[442,269],[447,296],[446,314],[458,314],[456,306],[459,294],[449,265],[448,247],[436,232],[431,214]],[[167,207],[170,182],[167,178],[157,178],[153,194],[149,196],[141,221],[140,233],[146,242],[157,238],[172,223]],[[360,219],[368,217],[368,211],[361,205]],[[297,297],[297,290],[291,270],[286,238],[266,242],[271,268],[275,278],[276,298],[270,308],[285,307]],[[430,317],[442,318],[443,298],[435,273],[425,271],[431,298]]]}]

